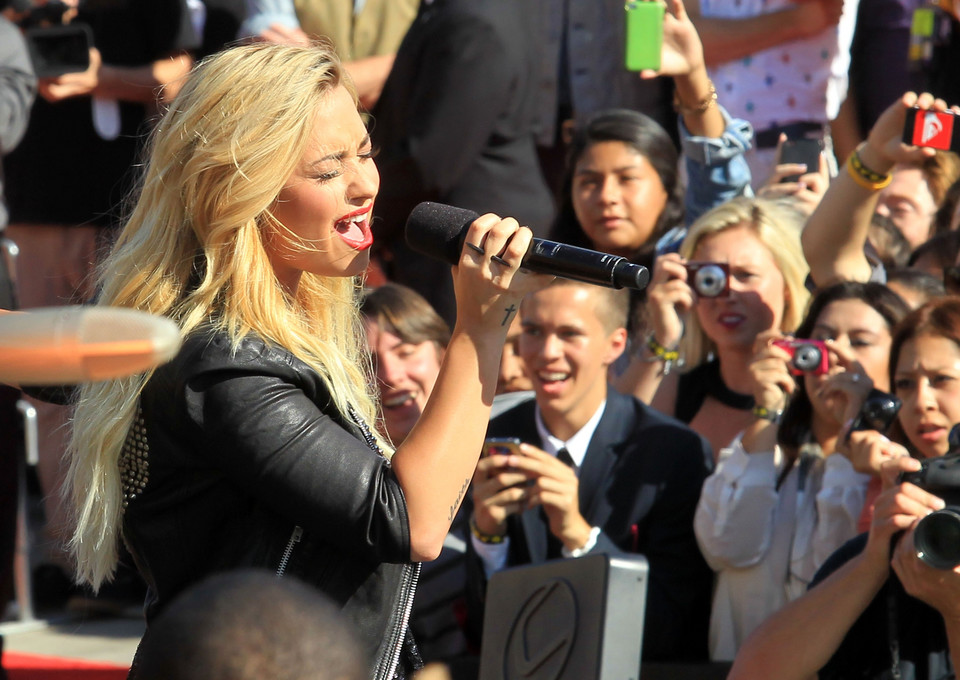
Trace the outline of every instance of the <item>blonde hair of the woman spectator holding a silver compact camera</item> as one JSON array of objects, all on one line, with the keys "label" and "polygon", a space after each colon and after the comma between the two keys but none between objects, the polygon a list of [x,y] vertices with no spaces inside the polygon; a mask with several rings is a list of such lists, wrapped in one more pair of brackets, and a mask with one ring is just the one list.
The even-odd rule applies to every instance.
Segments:
[{"label": "blonde hair of the woman spectator holding a silver compact camera", "polygon": [[[690,259],[704,238],[740,226],[753,230],[773,255],[787,288],[780,330],[793,332],[803,320],[810,299],[810,292],[804,285],[810,268],[800,245],[803,218],[796,210],[762,198],[740,197],[727,201],[693,223],[680,247],[680,254]],[[680,351],[685,360],[684,370],[689,371],[706,361],[716,351],[716,345],[703,332],[695,313],[688,316],[686,324]]]}]

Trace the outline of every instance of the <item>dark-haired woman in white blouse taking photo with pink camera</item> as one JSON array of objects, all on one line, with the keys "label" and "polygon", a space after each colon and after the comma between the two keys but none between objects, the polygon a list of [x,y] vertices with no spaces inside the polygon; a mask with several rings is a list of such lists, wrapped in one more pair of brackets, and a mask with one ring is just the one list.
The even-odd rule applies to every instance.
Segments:
[{"label": "dark-haired woman in white blouse taking photo with pink camera", "polygon": [[827,343],[829,369],[821,375],[795,377],[791,353],[774,344],[783,336],[758,336],[750,364],[755,421],[720,452],[694,520],[700,549],[718,572],[711,659],[732,660],[751,631],[802,594],[820,564],[857,533],[869,477],[831,454],[862,397],[874,386],[889,390],[890,331],[907,311],[876,283],[821,290],[796,336]]}]

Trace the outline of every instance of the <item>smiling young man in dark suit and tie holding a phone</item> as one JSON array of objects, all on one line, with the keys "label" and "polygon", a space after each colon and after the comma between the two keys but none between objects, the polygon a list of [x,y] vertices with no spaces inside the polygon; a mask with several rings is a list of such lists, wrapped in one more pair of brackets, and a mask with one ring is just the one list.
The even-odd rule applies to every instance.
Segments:
[{"label": "smiling young man in dark suit and tie holding a phone", "polygon": [[473,479],[471,589],[507,566],[586,553],[641,553],[650,565],[644,661],[707,657],[712,573],[693,514],[707,442],[608,387],[624,351],[629,296],[558,280],[524,299],[520,353],[535,398],[490,423],[519,454],[481,458]]}]

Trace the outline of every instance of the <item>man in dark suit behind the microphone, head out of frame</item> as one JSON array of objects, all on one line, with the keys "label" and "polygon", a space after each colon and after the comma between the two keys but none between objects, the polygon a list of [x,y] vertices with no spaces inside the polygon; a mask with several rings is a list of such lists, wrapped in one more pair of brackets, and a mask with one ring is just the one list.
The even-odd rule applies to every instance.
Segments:
[{"label": "man in dark suit behind the microphone, head out of frame", "polygon": [[510,215],[545,236],[553,197],[533,133],[530,0],[423,0],[370,128],[381,184],[373,225],[388,278],[453,325],[450,267],[406,247],[421,201]]}]

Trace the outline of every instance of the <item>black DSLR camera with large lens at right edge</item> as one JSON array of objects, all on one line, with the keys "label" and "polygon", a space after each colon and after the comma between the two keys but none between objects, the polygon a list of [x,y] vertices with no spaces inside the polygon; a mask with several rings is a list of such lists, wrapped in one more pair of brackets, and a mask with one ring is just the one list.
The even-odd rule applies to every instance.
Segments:
[{"label": "black DSLR camera with large lens at right edge", "polygon": [[913,532],[917,556],[935,569],[960,565],[960,424],[950,430],[950,450],[941,458],[921,461],[916,472],[904,472],[901,482],[910,482],[939,496],[943,510],[932,512]]}]

